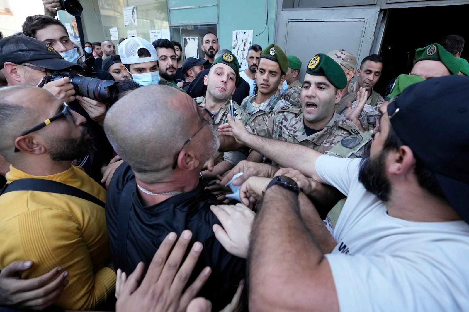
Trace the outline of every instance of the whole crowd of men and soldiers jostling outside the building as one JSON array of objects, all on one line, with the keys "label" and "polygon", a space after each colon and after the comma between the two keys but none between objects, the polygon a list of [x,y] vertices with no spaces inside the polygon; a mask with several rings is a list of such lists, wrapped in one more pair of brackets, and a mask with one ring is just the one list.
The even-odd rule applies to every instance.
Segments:
[{"label": "whole crowd of men and soldiers jostling outside the building", "polygon": [[29,16],[0,39],[0,310],[469,310],[463,47],[381,95],[377,54],[80,55]]}]

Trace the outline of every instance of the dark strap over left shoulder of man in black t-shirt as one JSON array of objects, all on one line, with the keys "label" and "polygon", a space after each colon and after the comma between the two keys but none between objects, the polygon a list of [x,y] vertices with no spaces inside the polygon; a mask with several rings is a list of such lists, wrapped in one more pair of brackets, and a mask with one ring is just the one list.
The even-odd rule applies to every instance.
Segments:
[{"label": "dark strap over left shoulder of man in black t-shirt", "polygon": [[[132,194],[134,194],[134,190],[137,187],[137,182],[135,178],[127,182],[122,189],[121,198],[119,199],[119,206],[118,206],[118,229],[119,232],[117,233],[117,254],[120,255],[118,257],[119,261],[118,268],[125,270],[127,268],[127,236],[129,232],[129,217],[130,211],[132,210]],[[130,273],[130,272],[128,272]]]}]

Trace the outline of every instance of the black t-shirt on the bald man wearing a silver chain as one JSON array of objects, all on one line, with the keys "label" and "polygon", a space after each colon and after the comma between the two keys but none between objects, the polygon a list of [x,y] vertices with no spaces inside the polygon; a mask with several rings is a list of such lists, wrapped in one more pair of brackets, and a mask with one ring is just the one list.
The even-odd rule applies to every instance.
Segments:
[{"label": "black t-shirt on the bald man wearing a silver chain", "polygon": [[[189,247],[199,241],[204,249],[187,285],[195,280],[205,266],[210,266],[212,274],[199,295],[212,301],[213,311],[221,310],[231,301],[236,285],[244,275],[246,262],[229,254],[215,238],[212,225],[220,223],[210,210],[210,205],[218,204],[217,198],[206,191],[200,182],[192,191],[144,207],[136,188],[133,189],[130,194],[132,206],[128,218],[127,249],[122,253],[118,249],[119,232],[122,229],[118,218],[119,201],[122,190],[131,180],[135,180],[134,173],[124,162],[115,171],[106,195],[106,222],[114,268],[121,268],[127,276],[140,261],[144,261],[145,268],[148,268],[169,232],[175,232],[179,237],[182,231],[189,229],[192,232]],[[126,260],[122,261],[122,257],[126,257]],[[123,262],[124,268],[120,267]]]}]

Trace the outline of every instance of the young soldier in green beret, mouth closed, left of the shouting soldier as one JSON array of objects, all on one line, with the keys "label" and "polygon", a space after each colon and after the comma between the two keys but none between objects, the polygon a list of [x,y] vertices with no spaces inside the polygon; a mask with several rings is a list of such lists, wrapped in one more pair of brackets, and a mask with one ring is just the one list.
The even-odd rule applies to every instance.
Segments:
[{"label": "young soldier in green beret, mouth closed, left of the shouting soldier", "polygon": [[277,96],[280,81],[285,79],[288,58],[276,44],[271,44],[261,52],[256,72],[257,94],[246,97],[241,108],[254,116],[284,106],[292,106]]}]

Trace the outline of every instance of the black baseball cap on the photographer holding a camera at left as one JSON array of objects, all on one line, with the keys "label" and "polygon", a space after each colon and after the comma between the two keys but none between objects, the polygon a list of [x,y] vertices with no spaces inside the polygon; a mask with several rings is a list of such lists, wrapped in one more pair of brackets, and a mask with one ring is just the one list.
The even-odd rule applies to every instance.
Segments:
[{"label": "black baseball cap on the photographer holding a camera at left", "polygon": [[14,64],[28,62],[51,70],[83,71],[80,65],[64,60],[49,44],[24,35],[8,36],[0,40],[0,69],[4,67],[5,62]]}]

